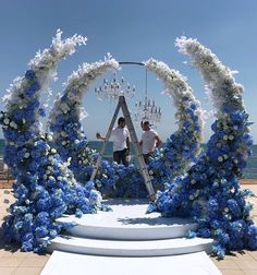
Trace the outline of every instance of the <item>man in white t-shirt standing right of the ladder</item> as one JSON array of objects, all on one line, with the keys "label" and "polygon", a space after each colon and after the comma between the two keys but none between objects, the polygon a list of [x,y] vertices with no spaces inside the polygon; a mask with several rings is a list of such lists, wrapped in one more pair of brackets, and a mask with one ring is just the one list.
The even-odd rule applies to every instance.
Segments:
[{"label": "man in white t-shirt standing right of the ladder", "polygon": [[161,144],[161,140],[158,133],[150,128],[149,121],[142,121],[142,140],[139,145],[142,145],[143,156],[146,164],[149,164],[149,157],[152,155],[156,147]]}]

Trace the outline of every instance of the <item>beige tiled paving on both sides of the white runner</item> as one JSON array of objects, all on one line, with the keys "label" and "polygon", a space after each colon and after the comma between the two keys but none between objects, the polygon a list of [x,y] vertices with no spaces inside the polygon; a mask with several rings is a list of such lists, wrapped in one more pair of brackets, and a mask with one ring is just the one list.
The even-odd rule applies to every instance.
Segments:
[{"label": "beige tiled paving on both sides of the white runner", "polygon": [[[244,189],[250,189],[257,194],[257,184],[244,184]],[[257,224],[257,199],[250,201],[256,205],[253,217]],[[7,216],[7,208],[13,202],[10,190],[0,189],[0,225]],[[0,228],[0,275],[36,275],[40,274],[50,254],[37,255],[35,253],[21,252],[19,247],[7,246],[3,242]],[[242,251],[227,255],[224,260],[218,261],[210,258],[224,275],[257,275],[257,251]]]}]

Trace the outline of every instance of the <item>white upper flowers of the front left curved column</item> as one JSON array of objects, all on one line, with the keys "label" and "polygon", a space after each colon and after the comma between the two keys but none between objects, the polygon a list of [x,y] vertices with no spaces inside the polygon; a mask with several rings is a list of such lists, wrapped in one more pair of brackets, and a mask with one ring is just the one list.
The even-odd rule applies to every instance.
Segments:
[{"label": "white upper flowers of the front left curved column", "polygon": [[[8,95],[3,97],[5,103],[7,116],[12,117],[16,110],[25,110],[27,108],[28,101],[39,100],[39,95],[48,91],[50,82],[56,76],[56,69],[58,62],[65,58],[68,55],[72,55],[75,51],[76,45],[82,45],[86,43],[85,37],[74,35],[65,40],[61,39],[62,32],[57,31],[56,37],[52,38],[52,46],[45,49],[42,52],[37,52],[35,58],[29,61],[29,70],[35,73],[37,83],[39,84],[38,91],[33,95],[33,97],[24,96],[24,91],[28,88],[30,82],[27,77],[16,77],[13,84],[10,85],[8,89]],[[36,119],[38,119],[38,113],[34,113]],[[24,121],[24,124],[26,121]],[[16,129],[13,121],[10,121],[10,127]],[[38,124],[40,125],[39,121]]]}]

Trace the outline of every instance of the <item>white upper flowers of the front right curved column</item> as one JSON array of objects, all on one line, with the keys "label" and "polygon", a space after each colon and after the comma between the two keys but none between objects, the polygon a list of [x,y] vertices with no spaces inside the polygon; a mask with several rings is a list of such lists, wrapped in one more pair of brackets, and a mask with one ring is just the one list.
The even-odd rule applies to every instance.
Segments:
[{"label": "white upper flowers of the front right curved column", "polygon": [[[237,125],[231,121],[232,112],[245,112],[242,98],[244,87],[235,82],[233,77],[234,72],[223,65],[218,57],[210,49],[197,41],[197,39],[187,39],[183,36],[176,39],[176,46],[181,52],[192,58],[193,63],[199,69],[206,82],[207,92],[217,109],[217,118],[219,119],[217,128],[225,132],[223,142],[231,142],[235,139],[233,134],[227,134],[227,132],[235,132],[237,135],[236,139],[248,133],[249,128],[247,125],[243,129],[237,129]],[[248,145],[246,142],[241,141],[237,153],[242,154],[244,159],[248,158]],[[223,162],[224,159],[227,159],[225,156],[219,157],[219,162]],[[237,159],[235,158],[234,162],[237,162]]]}]

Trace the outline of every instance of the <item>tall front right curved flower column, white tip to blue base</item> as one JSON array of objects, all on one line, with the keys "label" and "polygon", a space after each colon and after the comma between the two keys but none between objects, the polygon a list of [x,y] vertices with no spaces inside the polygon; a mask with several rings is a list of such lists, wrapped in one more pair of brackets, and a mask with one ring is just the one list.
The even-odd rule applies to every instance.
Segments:
[{"label": "tall front right curved flower column, white tip to blue base", "polygon": [[200,224],[188,237],[212,237],[218,240],[213,253],[222,259],[227,251],[257,249],[257,227],[250,219],[253,205],[241,190],[238,180],[252,154],[248,115],[242,100],[242,85],[232,72],[196,39],[176,39],[180,51],[191,56],[207,83],[217,120],[207,152],[184,176],[159,192],[158,210],[167,216],[191,216]]}]

